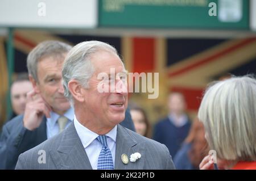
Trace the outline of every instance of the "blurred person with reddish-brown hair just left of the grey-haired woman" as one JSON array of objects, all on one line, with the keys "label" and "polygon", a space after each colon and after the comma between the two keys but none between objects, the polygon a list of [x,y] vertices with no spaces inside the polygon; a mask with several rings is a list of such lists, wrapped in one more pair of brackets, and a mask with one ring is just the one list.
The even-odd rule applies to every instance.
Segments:
[{"label": "blurred person with reddish-brown hair just left of the grey-haired woman", "polygon": [[187,138],[177,151],[174,165],[178,170],[198,170],[202,159],[208,154],[208,145],[204,137],[204,125],[197,118],[193,121]]}]

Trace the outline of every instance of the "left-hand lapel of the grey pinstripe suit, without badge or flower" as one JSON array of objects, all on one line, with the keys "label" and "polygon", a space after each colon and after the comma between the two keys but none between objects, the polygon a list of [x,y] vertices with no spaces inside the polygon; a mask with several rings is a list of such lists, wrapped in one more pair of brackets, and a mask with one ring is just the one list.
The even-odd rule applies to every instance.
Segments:
[{"label": "left-hand lapel of the grey pinstripe suit, without badge or flower", "polygon": [[63,131],[59,148],[51,150],[50,155],[57,169],[92,169],[74,123]]}]

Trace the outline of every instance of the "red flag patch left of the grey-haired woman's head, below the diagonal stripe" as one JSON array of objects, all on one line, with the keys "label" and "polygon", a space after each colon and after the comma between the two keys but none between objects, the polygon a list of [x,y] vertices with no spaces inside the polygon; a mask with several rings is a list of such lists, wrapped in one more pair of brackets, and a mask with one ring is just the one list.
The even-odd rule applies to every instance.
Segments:
[{"label": "red flag patch left of the grey-haired woman's head, below the diagonal stripe", "polygon": [[187,110],[199,109],[204,89],[193,89],[188,87],[172,87],[172,92],[180,92],[184,95],[187,103]]}]

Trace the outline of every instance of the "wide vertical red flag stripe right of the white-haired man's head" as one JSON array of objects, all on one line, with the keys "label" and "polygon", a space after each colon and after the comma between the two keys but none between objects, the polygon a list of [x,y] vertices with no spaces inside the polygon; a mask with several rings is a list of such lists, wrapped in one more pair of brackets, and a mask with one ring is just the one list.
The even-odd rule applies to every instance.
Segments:
[{"label": "wide vertical red flag stripe right of the white-haired man's head", "polygon": [[154,70],[155,39],[133,38],[133,72],[152,72]]}]

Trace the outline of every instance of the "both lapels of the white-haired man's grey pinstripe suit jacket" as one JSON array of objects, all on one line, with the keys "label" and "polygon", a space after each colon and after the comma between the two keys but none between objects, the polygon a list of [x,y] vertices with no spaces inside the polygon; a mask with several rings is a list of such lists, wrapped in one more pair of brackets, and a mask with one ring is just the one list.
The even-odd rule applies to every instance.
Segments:
[{"label": "both lapels of the white-haired man's grey pinstripe suit jacket", "polygon": [[[130,162],[130,155],[139,152],[141,158],[136,162]],[[84,146],[76,132],[75,125],[72,123],[65,131],[57,150],[50,150],[49,154],[53,159],[57,169],[86,169],[92,170]],[[125,165],[121,156],[126,154],[129,163]],[[115,169],[116,170],[141,170],[145,161],[144,142],[138,143],[125,128],[117,125],[117,140],[115,148]]]}]

